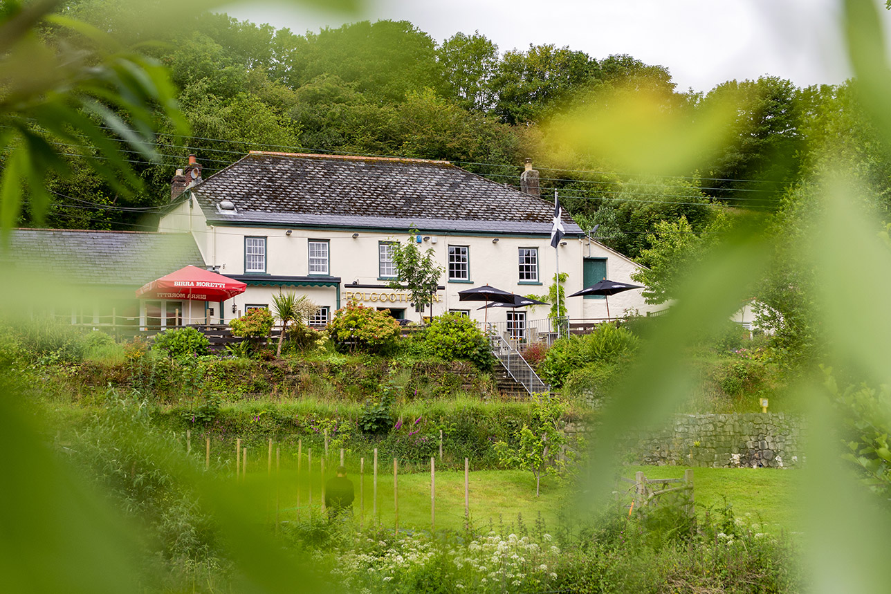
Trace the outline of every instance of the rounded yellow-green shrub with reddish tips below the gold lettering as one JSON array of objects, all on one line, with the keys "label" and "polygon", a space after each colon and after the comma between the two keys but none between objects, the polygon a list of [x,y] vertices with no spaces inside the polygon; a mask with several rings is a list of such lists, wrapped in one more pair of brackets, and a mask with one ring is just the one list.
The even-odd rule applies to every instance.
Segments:
[{"label": "rounded yellow-green shrub with reddish tips below the gold lettering", "polygon": [[340,352],[378,354],[396,346],[399,322],[385,311],[350,303],[334,314],[328,324],[328,333]]}]

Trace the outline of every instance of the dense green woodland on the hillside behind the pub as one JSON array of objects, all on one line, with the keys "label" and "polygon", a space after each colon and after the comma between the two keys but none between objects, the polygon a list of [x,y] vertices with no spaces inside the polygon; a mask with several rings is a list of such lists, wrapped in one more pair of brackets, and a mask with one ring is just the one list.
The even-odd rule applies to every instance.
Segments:
[{"label": "dense green woodland on the hillside behind the pub", "polygon": [[[158,110],[159,160],[116,141],[137,176],[132,191],[97,171],[101,147],[94,147],[94,167],[78,167],[83,148],[59,141],[69,167],[54,167],[65,173],[45,181],[45,216],[39,207],[31,216],[26,199],[20,225],[151,230],[168,202],[170,177],[189,153],[198,155],[205,177],[249,150],[269,150],[447,159],[512,184],[532,158],[545,195],[559,191],[584,229],[596,225],[598,240],[650,267],[639,280],[653,302],[674,297],[690,264],[734,228],[754,225],[780,238],[771,277],[752,294],[770,305],[765,315],[794,322],[783,331],[800,346],[813,343],[805,337],[815,313],[798,294],[807,283],[792,253],[808,233],[821,176],[845,168],[863,184],[876,220],[888,219],[891,159],[860,107],[855,81],[797,88],[765,76],[703,94],[675,88],[668,69],[632,56],[597,59],[556,45],[499,48],[480,32],[438,45],[406,21],[299,35],[220,13],[151,20],[151,10],[151,3],[77,0],[64,12],[166,66],[189,133],[169,110]],[[42,27],[49,47],[98,45],[77,28]],[[676,130],[706,133],[687,145],[681,134],[653,153],[631,143],[630,159],[615,150],[617,142],[649,123],[626,118],[625,129],[595,119],[580,127],[593,138],[587,144],[565,134],[591,110],[641,102]],[[661,162],[675,151],[685,159]]]}]

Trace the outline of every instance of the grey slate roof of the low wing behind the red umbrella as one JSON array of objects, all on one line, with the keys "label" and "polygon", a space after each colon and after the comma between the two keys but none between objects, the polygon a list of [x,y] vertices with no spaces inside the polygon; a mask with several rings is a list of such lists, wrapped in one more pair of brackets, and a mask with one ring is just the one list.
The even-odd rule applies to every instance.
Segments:
[{"label": "grey slate roof of the low wing behind the red umbrella", "polygon": [[188,264],[204,267],[189,233],[13,229],[4,264],[78,284],[142,287]]}]

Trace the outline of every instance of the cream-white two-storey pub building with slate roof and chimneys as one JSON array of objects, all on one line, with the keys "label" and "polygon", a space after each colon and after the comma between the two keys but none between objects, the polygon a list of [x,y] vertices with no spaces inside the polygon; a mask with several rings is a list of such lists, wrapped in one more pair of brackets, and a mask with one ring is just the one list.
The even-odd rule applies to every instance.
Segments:
[{"label": "cream-white two-storey pub building with slate roof and chimneys", "polygon": [[[200,165],[177,171],[172,201],[159,232],[190,233],[210,270],[247,284],[244,293],[210,303],[208,322],[225,323],[272,296],[294,291],[322,309],[322,325],[356,301],[417,321],[396,278],[395,241],[432,248],[445,270],[433,296],[433,315],[460,312],[475,320],[523,329],[544,319],[547,306],[528,312],[460,301],[458,292],[492,285],[518,295],[545,295],[556,272],[568,273],[567,295],[609,278],[631,282],[631,260],[587,237],[564,213],[565,236],[551,247],[553,199],[540,198],[538,175],[527,163],[517,191],[446,161],[252,151],[202,179]],[[409,236],[410,230],[417,230]],[[162,310],[169,304],[153,304]],[[180,305],[181,306],[181,305]],[[602,297],[567,299],[570,318],[607,317]],[[143,305],[144,311],[145,305]],[[613,317],[651,309],[640,291],[610,298]],[[429,315],[429,310],[425,315]]]}]

